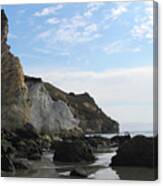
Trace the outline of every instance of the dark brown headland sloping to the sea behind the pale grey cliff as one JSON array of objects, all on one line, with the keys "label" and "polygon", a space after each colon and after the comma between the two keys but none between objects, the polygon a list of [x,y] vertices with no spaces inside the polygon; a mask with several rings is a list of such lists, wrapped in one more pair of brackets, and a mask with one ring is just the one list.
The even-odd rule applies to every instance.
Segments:
[{"label": "dark brown headland sloping to the sea behind the pale grey cliff", "polygon": [[119,131],[119,124],[108,117],[88,94],[65,93],[62,90],[45,83],[53,100],[62,100],[70,107],[79,127],[85,133],[114,133]]}]

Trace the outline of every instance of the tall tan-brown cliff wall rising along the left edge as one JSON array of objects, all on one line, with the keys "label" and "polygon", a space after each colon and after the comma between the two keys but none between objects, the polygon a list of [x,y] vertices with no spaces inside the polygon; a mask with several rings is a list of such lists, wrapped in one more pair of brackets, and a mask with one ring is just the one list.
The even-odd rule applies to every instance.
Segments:
[{"label": "tall tan-brown cliff wall rising along the left edge", "polygon": [[17,128],[29,121],[30,103],[20,61],[7,45],[8,19],[1,11],[2,128]]}]

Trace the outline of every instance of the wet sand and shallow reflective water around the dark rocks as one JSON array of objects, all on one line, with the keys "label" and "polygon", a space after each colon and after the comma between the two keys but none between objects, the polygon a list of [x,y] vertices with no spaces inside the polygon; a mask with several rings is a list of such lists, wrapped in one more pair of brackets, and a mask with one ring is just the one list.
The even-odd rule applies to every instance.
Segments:
[{"label": "wet sand and shallow reflective water around the dark rocks", "polygon": [[[101,134],[103,135],[103,134]],[[96,143],[99,143],[100,140],[109,140],[107,138],[94,136],[94,137],[86,137],[86,139],[96,139]],[[148,138],[148,137],[146,137]],[[113,137],[113,139],[115,139]],[[131,138],[132,139],[132,138]],[[83,139],[81,139],[83,140]],[[100,142],[101,143],[101,142]],[[105,143],[104,143],[105,144]],[[98,144],[99,145],[99,144]],[[117,144],[116,144],[117,145]],[[53,160],[54,153],[51,152],[43,152],[41,159],[31,161],[32,162],[32,169],[27,170],[18,170],[15,173],[7,173],[2,172],[2,176],[4,177],[44,177],[44,178],[82,178],[82,176],[71,176],[71,172],[73,170],[77,170],[79,172],[84,172],[86,174],[86,177],[89,179],[123,179],[121,178],[121,174],[123,173],[123,170],[128,172],[127,170],[146,170],[146,172],[149,175],[153,175],[153,169],[150,167],[111,167],[111,160],[112,158],[117,154],[117,149],[112,148],[111,146],[108,147],[108,151],[105,151],[105,147],[107,145],[103,145],[101,149],[103,151],[99,151],[99,149],[96,147],[94,149],[93,154],[95,155],[96,159],[94,162],[58,162]],[[111,150],[112,148],[112,150]],[[109,151],[110,150],[110,151]],[[141,178],[141,175],[139,175],[139,171],[135,173],[135,176],[138,176],[138,179]],[[88,175],[87,175],[88,174]],[[104,176],[103,176],[104,175]],[[146,175],[144,175],[146,177]],[[148,178],[147,176],[147,178]],[[84,178],[86,178],[84,176]],[[127,175],[124,176],[126,179]],[[132,177],[132,176],[131,176]],[[136,177],[135,177],[136,178]],[[150,176],[151,178],[151,176]],[[153,178],[153,177],[152,177]]]}]

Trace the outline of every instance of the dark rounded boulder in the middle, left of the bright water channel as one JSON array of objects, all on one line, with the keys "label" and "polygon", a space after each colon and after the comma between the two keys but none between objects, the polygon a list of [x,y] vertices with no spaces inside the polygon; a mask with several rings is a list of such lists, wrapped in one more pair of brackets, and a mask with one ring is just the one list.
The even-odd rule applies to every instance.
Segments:
[{"label": "dark rounded boulder in the middle, left of the bright water channel", "polygon": [[89,144],[80,139],[56,142],[53,160],[59,162],[92,162],[95,157]]}]

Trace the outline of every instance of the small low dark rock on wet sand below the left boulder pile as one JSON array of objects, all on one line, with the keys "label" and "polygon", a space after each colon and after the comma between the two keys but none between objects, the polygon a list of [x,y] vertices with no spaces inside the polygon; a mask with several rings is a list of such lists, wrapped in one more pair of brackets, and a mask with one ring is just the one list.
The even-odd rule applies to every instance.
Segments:
[{"label": "small low dark rock on wet sand below the left boulder pile", "polygon": [[31,163],[27,159],[14,159],[13,164],[16,169],[29,169],[31,167]]}]

